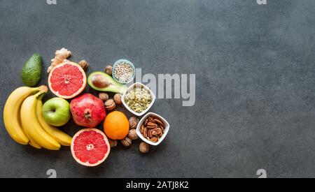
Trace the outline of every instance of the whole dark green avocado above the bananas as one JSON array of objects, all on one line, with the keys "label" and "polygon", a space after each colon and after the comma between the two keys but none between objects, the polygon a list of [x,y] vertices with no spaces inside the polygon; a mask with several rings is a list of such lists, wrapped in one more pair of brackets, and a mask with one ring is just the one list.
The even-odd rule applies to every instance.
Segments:
[{"label": "whole dark green avocado above the bananas", "polygon": [[28,87],[33,87],[41,80],[41,54],[35,53],[22,68],[22,81]]}]

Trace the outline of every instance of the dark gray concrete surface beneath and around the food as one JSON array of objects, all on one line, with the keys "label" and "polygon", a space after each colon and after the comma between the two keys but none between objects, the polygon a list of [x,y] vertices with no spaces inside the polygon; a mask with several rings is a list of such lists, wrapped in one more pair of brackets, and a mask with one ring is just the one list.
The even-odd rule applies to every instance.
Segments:
[{"label": "dark gray concrete surface beneath and around the food", "polygon": [[1,118],[0,177],[315,177],[314,10],[313,0],[0,0],[1,114],[34,52],[44,68],[67,47],[87,73],[125,58],[144,74],[196,74],[193,107],[158,99],[151,110],[171,124],[160,146],[120,145],[97,168],[66,147],[18,145]]}]

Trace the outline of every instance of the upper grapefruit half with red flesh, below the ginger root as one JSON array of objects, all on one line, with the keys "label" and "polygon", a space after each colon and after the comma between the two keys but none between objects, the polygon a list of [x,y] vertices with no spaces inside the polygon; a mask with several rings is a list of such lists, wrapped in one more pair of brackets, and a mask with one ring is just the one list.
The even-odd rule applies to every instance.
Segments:
[{"label": "upper grapefruit half with red flesh, below the ginger root", "polygon": [[78,96],[85,89],[86,82],[83,68],[73,62],[64,62],[55,66],[48,77],[50,91],[66,99]]}]

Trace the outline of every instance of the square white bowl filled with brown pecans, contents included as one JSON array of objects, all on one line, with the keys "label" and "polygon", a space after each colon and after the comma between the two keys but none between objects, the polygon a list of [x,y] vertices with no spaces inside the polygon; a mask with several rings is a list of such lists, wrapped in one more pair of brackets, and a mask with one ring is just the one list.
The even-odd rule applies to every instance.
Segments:
[{"label": "square white bowl filled with brown pecans, contents included", "polygon": [[169,132],[169,123],[163,117],[153,112],[148,112],[139,121],[136,133],[149,145],[159,145]]}]

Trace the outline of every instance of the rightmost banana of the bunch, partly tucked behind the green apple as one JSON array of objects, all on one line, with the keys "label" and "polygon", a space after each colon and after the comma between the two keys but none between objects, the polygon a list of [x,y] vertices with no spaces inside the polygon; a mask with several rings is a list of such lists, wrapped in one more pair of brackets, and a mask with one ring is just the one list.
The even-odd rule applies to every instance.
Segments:
[{"label": "rightmost banana of the bunch, partly tucked behind the green apple", "polygon": [[57,140],[57,142],[59,142],[61,145],[70,146],[72,138],[66,133],[62,132],[59,128],[50,126],[50,124],[46,123],[45,119],[43,119],[43,101],[41,101],[42,98],[43,95],[39,96],[37,101],[37,118],[39,123],[41,124],[41,127],[48,133],[48,135]]}]

